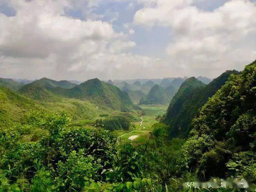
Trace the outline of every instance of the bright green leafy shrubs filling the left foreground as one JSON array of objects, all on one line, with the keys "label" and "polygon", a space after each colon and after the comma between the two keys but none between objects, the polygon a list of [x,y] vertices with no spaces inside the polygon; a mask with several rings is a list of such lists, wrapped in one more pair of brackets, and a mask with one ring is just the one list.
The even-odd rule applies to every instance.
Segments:
[{"label": "bright green leafy shrubs filling the left foreground", "polygon": [[[142,156],[104,129],[70,128],[65,113],[34,112],[26,124],[0,130],[0,191],[161,191],[146,178]],[[31,129],[44,137],[25,142]]]}]

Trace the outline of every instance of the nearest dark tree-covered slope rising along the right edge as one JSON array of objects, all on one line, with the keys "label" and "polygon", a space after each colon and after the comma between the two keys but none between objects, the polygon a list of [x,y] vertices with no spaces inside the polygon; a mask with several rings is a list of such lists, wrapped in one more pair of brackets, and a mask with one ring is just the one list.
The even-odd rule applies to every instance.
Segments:
[{"label": "nearest dark tree-covered slope rising along the right edge", "polygon": [[[189,164],[200,176],[256,179],[256,62],[230,78],[192,121]],[[192,150],[193,149],[193,150]]]}]

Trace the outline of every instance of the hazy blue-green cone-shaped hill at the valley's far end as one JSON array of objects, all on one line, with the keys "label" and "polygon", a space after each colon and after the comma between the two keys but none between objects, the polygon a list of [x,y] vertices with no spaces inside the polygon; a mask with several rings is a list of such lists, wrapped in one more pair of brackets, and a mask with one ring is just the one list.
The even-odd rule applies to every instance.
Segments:
[{"label": "hazy blue-green cone-shaped hill at the valley's far end", "polygon": [[170,99],[164,91],[164,88],[160,85],[154,85],[150,89],[146,100],[143,98],[143,100],[140,101],[140,104],[167,104],[168,102],[170,102]]}]

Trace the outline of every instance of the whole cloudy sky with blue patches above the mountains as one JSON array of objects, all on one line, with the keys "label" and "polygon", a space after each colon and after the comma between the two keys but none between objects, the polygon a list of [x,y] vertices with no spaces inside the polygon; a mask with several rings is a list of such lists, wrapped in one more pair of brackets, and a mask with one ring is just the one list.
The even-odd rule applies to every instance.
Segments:
[{"label": "whole cloudy sky with blue patches above the mountains", "polygon": [[256,59],[256,0],[0,0],[0,77],[215,78]]}]

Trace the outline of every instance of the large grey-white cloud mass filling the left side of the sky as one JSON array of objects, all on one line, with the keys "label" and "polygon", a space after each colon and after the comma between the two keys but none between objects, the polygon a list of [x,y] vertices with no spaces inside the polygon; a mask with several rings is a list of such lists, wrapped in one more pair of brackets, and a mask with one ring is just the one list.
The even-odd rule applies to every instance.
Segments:
[{"label": "large grey-white cloud mass filling the left side of the sky", "polygon": [[[110,78],[136,46],[109,22],[66,14],[74,0],[10,1],[15,16],[0,13],[0,76],[54,79]],[[86,6],[96,6],[87,1]],[[126,54],[124,54],[126,52]],[[136,59],[134,59],[136,58]],[[123,61],[124,60],[124,61]],[[135,64],[135,63],[134,63]],[[113,72],[112,74],[110,73]],[[122,73],[123,74],[123,73]]]}]

